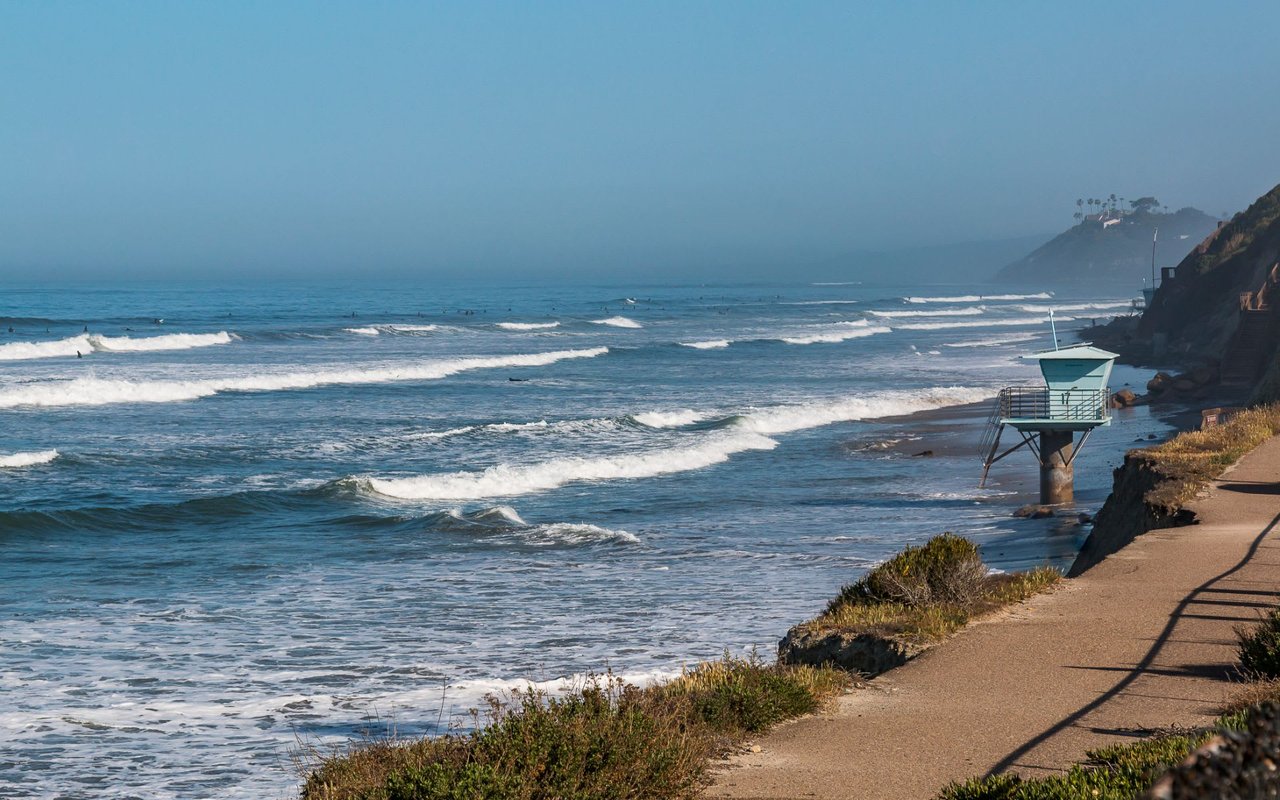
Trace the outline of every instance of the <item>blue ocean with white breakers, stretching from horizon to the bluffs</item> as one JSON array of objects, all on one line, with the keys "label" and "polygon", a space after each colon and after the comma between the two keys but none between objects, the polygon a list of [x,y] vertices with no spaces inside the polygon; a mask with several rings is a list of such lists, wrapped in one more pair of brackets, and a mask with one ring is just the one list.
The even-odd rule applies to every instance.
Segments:
[{"label": "blue ocean with white breakers, stretching from horizon to the bluffs", "polygon": [[[36,287],[0,319],[0,795],[288,797],[300,748],[778,637],[951,530],[1021,356],[1125,297],[989,285]],[[1146,374],[1117,367],[1114,388]],[[1169,425],[1116,412],[1076,461]],[[915,456],[933,451],[932,457]]]}]

